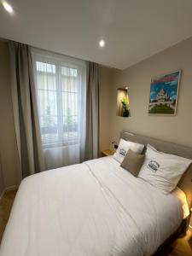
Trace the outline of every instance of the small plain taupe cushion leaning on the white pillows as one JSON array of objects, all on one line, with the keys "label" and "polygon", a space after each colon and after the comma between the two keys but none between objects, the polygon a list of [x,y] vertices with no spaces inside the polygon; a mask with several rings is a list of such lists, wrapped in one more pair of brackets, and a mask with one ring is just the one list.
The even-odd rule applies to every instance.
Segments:
[{"label": "small plain taupe cushion leaning on the white pillows", "polygon": [[137,177],[141,167],[143,166],[144,159],[144,154],[137,154],[136,152],[129,149],[120,166],[131,172],[131,174],[135,177]]}]

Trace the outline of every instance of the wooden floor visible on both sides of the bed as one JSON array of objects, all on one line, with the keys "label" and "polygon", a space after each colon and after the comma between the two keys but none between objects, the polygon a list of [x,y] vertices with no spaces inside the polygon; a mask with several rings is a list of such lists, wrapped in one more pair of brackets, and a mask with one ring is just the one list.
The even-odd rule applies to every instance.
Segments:
[{"label": "wooden floor visible on both sides of the bed", "polygon": [[[16,191],[7,191],[0,201],[0,241],[3,231],[9,219],[9,213],[15,199]],[[192,256],[192,232],[188,231],[186,236],[178,238],[168,247],[163,248],[155,256]]]}]

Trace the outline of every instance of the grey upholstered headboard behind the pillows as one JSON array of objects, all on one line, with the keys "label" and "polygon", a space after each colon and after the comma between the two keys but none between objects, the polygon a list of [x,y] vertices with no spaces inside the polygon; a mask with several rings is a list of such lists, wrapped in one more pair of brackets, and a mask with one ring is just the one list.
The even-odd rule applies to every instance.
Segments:
[{"label": "grey upholstered headboard behind the pillows", "polygon": [[[145,137],[138,134],[133,134],[128,131],[121,131],[120,137],[125,140],[129,140],[134,143],[142,143],[147,145],[148,143],[154,146],[159,151],[168,153],[168,154],[177,154],[185,158],[192,160],[192,148],[185,147],[182,145],[177,145],[175,143],[164,142],[152,137]],[[189,169],[184,173],[183,177],[177,184],[177,186],[182,189],[187,195],[189,207],[192,206],[192,165],[189,166]]]}]

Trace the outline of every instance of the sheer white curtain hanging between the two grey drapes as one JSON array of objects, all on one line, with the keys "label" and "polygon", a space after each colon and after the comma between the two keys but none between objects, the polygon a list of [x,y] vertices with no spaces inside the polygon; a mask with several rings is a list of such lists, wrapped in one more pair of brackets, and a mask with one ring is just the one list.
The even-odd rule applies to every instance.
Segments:
[{"label": "sheer white curtain hanging between the two grey drapes", "polygon": [[86,66],[32,49],[45,169],[84,160]]}]

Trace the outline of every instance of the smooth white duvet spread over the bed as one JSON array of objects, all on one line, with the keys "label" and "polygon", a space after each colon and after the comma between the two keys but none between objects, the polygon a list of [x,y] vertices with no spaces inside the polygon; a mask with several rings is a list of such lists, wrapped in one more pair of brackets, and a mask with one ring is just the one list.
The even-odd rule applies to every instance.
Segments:
[{"label": "smooth white duvet spread over the bed", "polygon": [[104,157],[24,179],[0,255],[151,255],[182,218],[176,197]]}]

